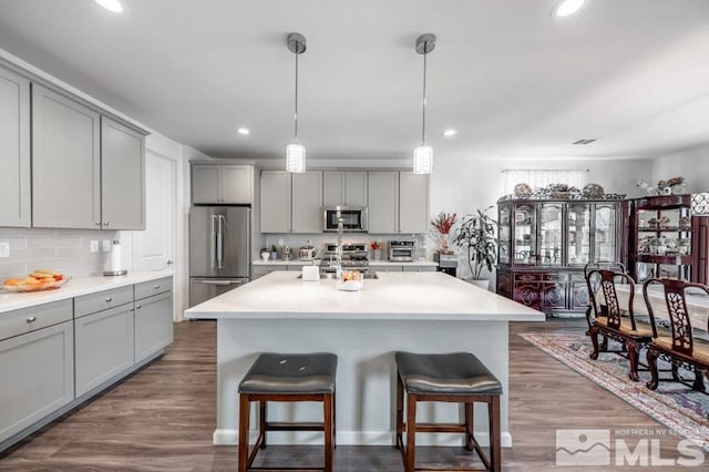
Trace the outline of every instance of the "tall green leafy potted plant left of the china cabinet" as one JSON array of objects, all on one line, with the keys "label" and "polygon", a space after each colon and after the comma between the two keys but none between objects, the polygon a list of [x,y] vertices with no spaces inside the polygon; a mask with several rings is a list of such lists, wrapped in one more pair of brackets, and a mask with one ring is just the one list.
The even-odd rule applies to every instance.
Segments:
[{"label": "tall green leafy potted plant left of the china cabinet", "polygon": [[492,271],[492,265],[497,257],[497,239],[495,237],[497,222],[487,215],[491,208],[493,206],[465,215],[455,229],[455,238],[453,239],[453,244],[466,249],[471,281],[483,288],[487,288],[490,280],[481,278],[482,270],[486,268]]}]

